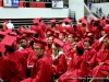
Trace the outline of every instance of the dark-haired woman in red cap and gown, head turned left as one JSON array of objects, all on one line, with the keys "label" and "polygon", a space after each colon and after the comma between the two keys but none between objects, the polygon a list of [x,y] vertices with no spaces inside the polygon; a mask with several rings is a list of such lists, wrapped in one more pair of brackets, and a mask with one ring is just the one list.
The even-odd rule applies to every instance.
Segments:
[{"label": "dark-haired woman in red cap and gown, head turned left", "polygon": [[83,58],[84,47],[82,43],[74,46],[74,51],[75,54],[68,66],[68,70],[59,78],[59,82],[80,82],[80,78],[84,77],[87,65]]}]

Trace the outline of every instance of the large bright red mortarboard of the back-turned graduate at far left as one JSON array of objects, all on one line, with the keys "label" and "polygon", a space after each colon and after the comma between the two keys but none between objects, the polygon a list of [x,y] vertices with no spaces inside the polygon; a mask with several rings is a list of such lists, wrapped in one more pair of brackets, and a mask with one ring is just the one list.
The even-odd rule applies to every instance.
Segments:
[{"label": "large bright red mortarboard of the back-turned graduate at far left", "polygon": [[4,44],[7,46],[12,46],[15,40],[16,40],[15,36],[5,35],[5,37],[2,39],[1,44]]}]

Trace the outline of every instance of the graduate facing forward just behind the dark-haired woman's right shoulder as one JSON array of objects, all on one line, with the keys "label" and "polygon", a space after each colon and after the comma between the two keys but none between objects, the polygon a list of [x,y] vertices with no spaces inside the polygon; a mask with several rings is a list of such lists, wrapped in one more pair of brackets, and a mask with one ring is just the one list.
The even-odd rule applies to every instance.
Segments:
[{"label": "graduate facing forward just behind the dark-haired woman's right shoulder", "polygon": [[96,66],[95,57],[96,57],[97,51],[92,47],[92,44],[93,44],[93,38],[90,36],[85,36],[85,38],[84,38],[84,47],[85,47],[84,58],[87,63],[90,62],[88,65],[86,77],[88,77],[89,71]]}]

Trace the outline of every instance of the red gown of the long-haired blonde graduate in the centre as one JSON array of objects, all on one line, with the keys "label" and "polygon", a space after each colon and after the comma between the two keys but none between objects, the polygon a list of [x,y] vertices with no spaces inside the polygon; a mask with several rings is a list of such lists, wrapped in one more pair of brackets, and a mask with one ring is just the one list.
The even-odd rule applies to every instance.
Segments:
[{"label": "red gown of the long-haired blonde graduate in the centre", "polygon": [[61,75],[66,71],[66,60],[65,56],[63,54],[60,54],[58,58],[53,62],[53,74],[55,75]]}]

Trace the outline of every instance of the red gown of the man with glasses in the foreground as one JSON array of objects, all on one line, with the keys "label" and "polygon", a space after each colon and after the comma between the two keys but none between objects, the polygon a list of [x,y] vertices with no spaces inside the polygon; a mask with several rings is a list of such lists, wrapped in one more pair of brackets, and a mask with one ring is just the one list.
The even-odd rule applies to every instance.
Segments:
[{"label": "red gown of the man with glasses in the foreground", "polygon": [[48,57],[41,56],[35,62],[32,75],[21,82],[51,82],[52,66]]}]

